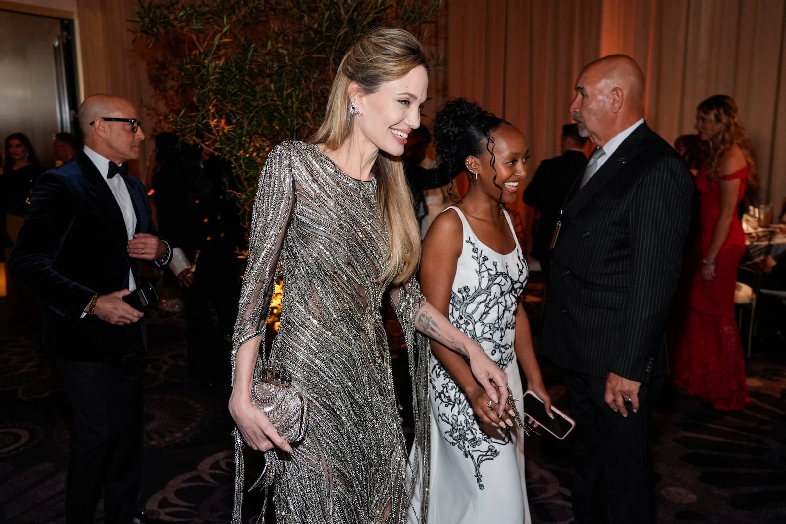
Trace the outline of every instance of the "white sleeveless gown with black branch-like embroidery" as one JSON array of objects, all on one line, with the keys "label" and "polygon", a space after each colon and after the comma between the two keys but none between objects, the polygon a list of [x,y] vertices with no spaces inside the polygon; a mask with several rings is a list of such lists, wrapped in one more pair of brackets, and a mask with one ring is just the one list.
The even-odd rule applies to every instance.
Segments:
[{"label": "white sleeveless gown with black branch-like embroidery", "polygon": [[[454,210],[454,211],[448,211]],[[522,383],[513,341],[516,307],[527,284],[527,262],[505,211],[516,249],[501,255],[483,244],[457,207],[464,229],[450,294],[450,322],[474,339],[508,373],[516,398]],[[465,394],[432,355],[432,474],[428,524],[530,523],[524,484],[523,433],[479,426]],[[523,407],[517,404],[520,412]],[[410,459],[413,458],[410,456]],[[419,507],[421,486],[413,493]],[[415,522],[410,512],[409,522]]]}]

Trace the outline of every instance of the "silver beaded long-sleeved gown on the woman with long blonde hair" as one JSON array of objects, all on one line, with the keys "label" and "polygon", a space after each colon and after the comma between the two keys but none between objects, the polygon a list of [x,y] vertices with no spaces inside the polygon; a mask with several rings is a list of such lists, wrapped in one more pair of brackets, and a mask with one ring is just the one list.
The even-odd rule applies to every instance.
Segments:
[{"label": "silver beaded long-sleeved gown on the woman with long blonde hair", "polygon": [[[309,403],[306,436],[293,445],[292,455],[265,454],[277,522],[405,522],[408,478],[418,475],[407,471],[379,314],[391,279],[378,281],[387,267],[387,230],[376,203],[376,180],[347,176],[316,145],[284,142],[265,163],[249,240],[235,352],[258,335],[264,347],[280,263],[285,291],[271,355],[292,373],[292,387]],[[424,340],[413,335],[414,306],[421,296],[417,282],[401,289],[396,309],[407,342],[422,346]],[[428,450],[423,440],[428,439],[428,366],[422,362],[428,352],[421,353],[426,358],[420,365],[410,360],[410,371],[417,377],[417,441]],[[243,486],[239,473],[235,519]]]}]

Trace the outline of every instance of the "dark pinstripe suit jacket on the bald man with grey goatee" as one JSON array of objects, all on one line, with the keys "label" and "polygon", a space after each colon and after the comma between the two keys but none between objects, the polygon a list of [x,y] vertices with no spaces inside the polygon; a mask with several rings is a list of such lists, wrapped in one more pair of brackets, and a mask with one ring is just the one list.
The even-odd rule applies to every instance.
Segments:
[{"label": "dark pinstripe suit jacket on the bald man with grey goatee", "polygon": [[666,326],[691,222],[688,168],[646,123],[567,194],[543,352],[589,376],[667,372]]}]

